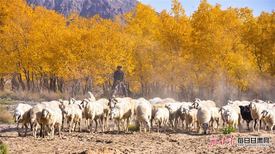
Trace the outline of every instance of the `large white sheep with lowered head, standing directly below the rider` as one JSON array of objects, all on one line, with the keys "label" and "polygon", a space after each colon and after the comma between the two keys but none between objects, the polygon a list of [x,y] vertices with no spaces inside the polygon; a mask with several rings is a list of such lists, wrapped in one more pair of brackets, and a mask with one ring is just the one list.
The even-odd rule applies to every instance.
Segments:
[{"label": "large white sheep with lowered head, standing directly below the rider", "polygon": [[[123,128],[127,132],[129,119],[131,118],[131,111],[132,107],[131,104],[127,100],[121,100],[119,103],[115,104],[110,112],[110,120],[115,120],[117,123],[121,123],[123,121]],[[125,121],[127,119],[127,127],[125,127]],[[120,127],[117,127],[117,134],[120,131]]]}]

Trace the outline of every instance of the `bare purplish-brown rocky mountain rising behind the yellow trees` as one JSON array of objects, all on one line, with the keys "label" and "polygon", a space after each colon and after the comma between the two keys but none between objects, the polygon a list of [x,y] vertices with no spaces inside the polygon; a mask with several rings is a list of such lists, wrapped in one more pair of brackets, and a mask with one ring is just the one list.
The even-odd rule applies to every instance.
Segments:
[{"label": "bare purplish-brown rocky mountain rising behind the yellow trees", "polygon": [[119,14],[131,11],[136,0],[27,0],[29,4],[55,10],[68,17],[72,11],[86,17],[99,14],[104,19],[113,19]]}]

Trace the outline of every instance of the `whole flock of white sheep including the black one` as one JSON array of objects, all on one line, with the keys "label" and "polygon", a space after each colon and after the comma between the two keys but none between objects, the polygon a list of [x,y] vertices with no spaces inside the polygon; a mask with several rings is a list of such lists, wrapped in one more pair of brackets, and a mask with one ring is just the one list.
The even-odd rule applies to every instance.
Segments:
[{"label": "whole flock of white sheep including the black one", "polygon": [[[213,101],[201,101],[197,98],[193,102],[176,102],[172,98],[146,100],[129,97],[96,101],[93,94],[88,92],[82,101],[70,98],[68,101],[41,102],[33,107],[28,104],[18,104],[15,108],[14,121],[17,123],[18,135],[21,137],[26,137],[28,123],[30,123],[34,137],[38,137],[38,126],[40,126],[40,137],[44,137],[45,126],[47,135],[50,137],[54,136],[55,126],[57,126],[58,137],[61,137],[60,129],[63,129],[64,119],[67,119],[69,133],[76,131],[77,123],[78,131],[81,133],[82,118],[85,118],[86,132],[88,129],[90,133],[92,132],[93,121],[95,121],[95,132],[97,132],[98,119],[104,132],[104,128],[108,128],[109,117],[109,120],[114,120],[114,129],[117,130],[117,133],[121,129],[127,132],[133,118],[133,122],[140,129],[140,133],[142,133],[142,125],[144,133],[150,132],[153,121],[157,125],[156,132],[163,132],[162,125],[164,125],[164,132],[166,132],[167,125],[174,132],[177,129],[178,121],[181,120],[182,130],[186,125],[185,130],[193,132],[193,129],[196,129],[195,124],[197,124],[197,133],[201,134],[203,129],[204,134],[207,134],[208,130],[211,132],[211,127],[212,131],[215,131],[214,121],[217,123],[217,131],[219,131],[220,118],[223,120],[223,127],[226,124],[226,127],[230,125],[236,130],[239,127],[239,131],[241,131],[242,118],[247,122],[247,130],[250,130],[250,121],[254,127],[256,126],[254,122],[257,122],[258,131],[260,128],[259,121],[264,121],[266,125],[269,125],[271,136],[273,135],[272,128],[275,125],[275,107],[270,102],[260,100],[250,102],[227,101],[226,106],[217,108]],[[103,119],[105,127],[103,127]],[[18,129],[19,123],[22,123],[21,133]],[[24,126],[25,133],[23,133]],[[254,127],[252,127],[253,132]]]}]

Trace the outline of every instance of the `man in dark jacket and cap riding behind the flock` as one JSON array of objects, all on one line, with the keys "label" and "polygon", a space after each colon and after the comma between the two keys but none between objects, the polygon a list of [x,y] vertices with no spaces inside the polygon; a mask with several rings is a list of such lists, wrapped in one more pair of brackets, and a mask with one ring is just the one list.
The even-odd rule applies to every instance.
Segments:
[{"label": "man in dark jacket and cap riding behind the flock", "polygon": [[114,72],[114,76],[113,76],[113,86],[116,86],[117,84],[119,84],[119,82],[121,82],[121,86],[123,88],[123,95],[125,97],[128,97],[127,95],[127,89],[125,84],[123,83],[124,81],[124,72],[121,71],[122,66],[117,66],[117,71]]}]

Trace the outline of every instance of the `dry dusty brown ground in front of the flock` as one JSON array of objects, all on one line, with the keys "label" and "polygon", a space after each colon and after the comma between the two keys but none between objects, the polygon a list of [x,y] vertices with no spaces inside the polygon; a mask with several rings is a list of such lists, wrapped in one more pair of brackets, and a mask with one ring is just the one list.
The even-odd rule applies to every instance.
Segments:
[{"label": "dry dusty brown ground in front of the flock", "polygon": [[[66,123],[66,122],[65,122]],[[65,124],[64,123],[64,124]],[[113,121],[109,122],[113,129]],[[220,122],[220,127],[222,121]],[[243,123],[245,128],[245,123]],[[68,133],[64,125],[64,131],[59,138],[55,131],[54,139],[34,138],[31,131],[28,130],[27,137],[18,137],[16,125],[0,124],[0,141],[7,143],[10,153],[274,153],[274,137],[270,138],[269,147],[238,147],[238,137],[269,137],[269,131],[260,130],[260,132],[242,131],[241,133],[231,133],[223,135],[221,132],[209,133],[207,135],[197,134],[197,129],[193,133],[182,131],[181,124],[179,129],[171,133],[156,133],[156,125],[153,125],[153,131],[142,132],[129,131],[116,134],[115,131],[107,129],[102,133],[98,128],[96,134],[85,133],[85,124],[82,120],[82,133]],[[95,127],[95,123],[93,128]],[[21,130],[21,125],[19,125]],[[76,128],[78,130],[78,126]],[[84,131],[84,132],[83,132]],[[142,129],[143,131],[143,129]],[[218,142],[225,137],[230,139],[231,135],[235,145],[230,146],[228,142],[225,145],[208,146],[212,135],[218,138]],[[62,139],[66,137],[66,139]]]}]

